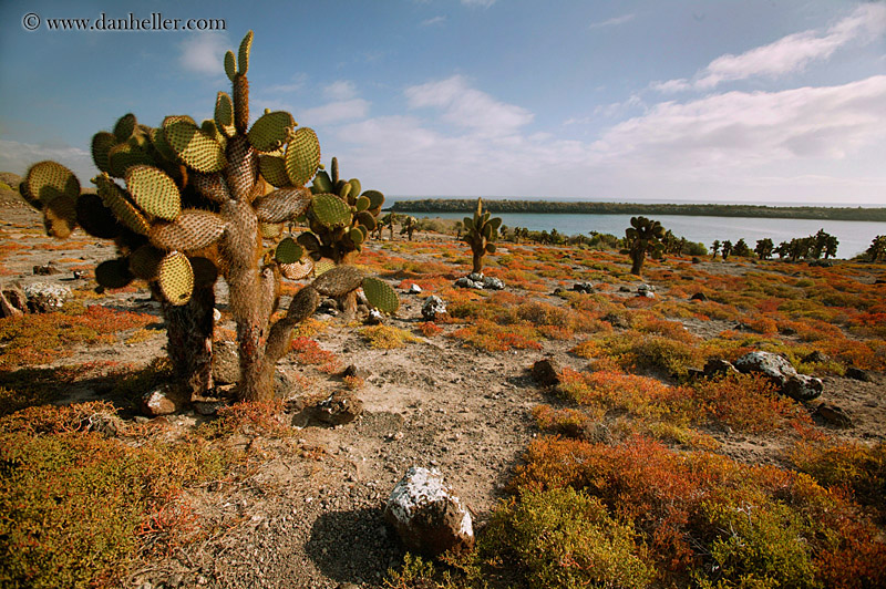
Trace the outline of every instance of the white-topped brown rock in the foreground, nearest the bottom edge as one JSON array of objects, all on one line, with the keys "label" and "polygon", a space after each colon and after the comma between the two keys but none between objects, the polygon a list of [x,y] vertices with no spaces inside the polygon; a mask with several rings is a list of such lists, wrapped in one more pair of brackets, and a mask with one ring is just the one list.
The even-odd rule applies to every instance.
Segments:
[{"label": "white-topped brown rock in the foreground, nearest the bottom edge", "polygon": [[474,548],[471,514],[436,468],[413,466],[406,471],[388,498],[384,518],[406,550],[433,558],[446,550]]}]

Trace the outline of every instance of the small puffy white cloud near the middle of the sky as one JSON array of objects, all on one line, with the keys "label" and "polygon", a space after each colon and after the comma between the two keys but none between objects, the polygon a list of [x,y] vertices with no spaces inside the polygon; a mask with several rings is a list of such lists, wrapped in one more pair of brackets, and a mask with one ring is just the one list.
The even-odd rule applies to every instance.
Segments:
[{"label": "small puffy white cloud near the middle of the sky", "polygon": [[410,108],[439,108],[444,122],[483,135],[512,134],[533,121],[526,108],[496,101],[461,75],[408,87],[405,96]]}]

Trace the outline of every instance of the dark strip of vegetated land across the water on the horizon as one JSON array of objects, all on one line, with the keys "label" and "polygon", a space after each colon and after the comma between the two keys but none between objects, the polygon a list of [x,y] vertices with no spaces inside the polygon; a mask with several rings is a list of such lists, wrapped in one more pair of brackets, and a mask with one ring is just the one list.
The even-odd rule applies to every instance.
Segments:
[{"label": "dark strip of vegetated land across the water on the horizon", "polygon": [[[398,200],[394,213],[470,213],[476,200],[470,198],[421,198]],[[687,215],[704,217],[752,217],[785,219],[827,219],[886,221],[886,207],[775,207],[766,205],[589,203],[560,200],[486,200],[491,213],[584,213],[591,215]]]}]

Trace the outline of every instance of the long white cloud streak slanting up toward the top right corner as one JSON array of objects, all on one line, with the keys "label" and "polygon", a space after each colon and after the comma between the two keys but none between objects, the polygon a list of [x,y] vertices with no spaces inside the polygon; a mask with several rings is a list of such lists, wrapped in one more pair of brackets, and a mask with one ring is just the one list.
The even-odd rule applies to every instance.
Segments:
[{"label": "long white cloud streak slanting up toward the top right corner", "polygon": [[886,32],[886,4],[861,6],[853,13],[825,31],[789,34],[773,43],[745,51],[740,55],[717,58],[696,74],[693,80],[653,82],[660,92],[689,89],[711,90],[723,82],[754,76],[779,78],[804,70],[811,62],[828,59],[851,41],[870,42]]}]

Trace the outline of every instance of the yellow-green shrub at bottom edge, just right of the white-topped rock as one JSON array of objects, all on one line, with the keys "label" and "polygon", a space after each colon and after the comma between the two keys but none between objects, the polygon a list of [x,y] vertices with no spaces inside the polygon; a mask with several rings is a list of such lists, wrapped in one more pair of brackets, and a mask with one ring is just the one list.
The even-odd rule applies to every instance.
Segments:
[{"label": "yellow-green shrub at bottom edge, just right of the white-topped rock", "polygon": [[484,550],[513,561],[530,587],[647,587],[652,570],[630,525],[573,488],[523,490],[496,509]]}]

